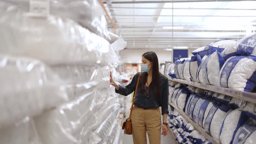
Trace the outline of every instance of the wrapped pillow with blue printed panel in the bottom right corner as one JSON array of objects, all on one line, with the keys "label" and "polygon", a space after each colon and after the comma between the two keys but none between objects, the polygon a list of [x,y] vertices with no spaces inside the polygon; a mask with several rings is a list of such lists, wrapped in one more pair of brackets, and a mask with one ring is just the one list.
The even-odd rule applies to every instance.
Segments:
[{"label": "wrapped pillow with blue printed panel in the bottom right corner", "polygon": [[233,144],[254,144],[256,141],[256,125],[243,124],[236,132]]}]

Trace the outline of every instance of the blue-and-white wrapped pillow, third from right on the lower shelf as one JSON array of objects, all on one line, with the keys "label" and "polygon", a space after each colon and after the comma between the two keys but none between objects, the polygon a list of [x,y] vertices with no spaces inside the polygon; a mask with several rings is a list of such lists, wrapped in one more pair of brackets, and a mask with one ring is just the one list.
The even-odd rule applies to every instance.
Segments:
[{"label": "blue-and-white wrapped pillow, third from right on the lower shelf", "polygon": [[213,105],[205,119],[203,128],[217,140],[219,139],[220,128],[228,111],[230,111],[230,108],[226,105]]}]

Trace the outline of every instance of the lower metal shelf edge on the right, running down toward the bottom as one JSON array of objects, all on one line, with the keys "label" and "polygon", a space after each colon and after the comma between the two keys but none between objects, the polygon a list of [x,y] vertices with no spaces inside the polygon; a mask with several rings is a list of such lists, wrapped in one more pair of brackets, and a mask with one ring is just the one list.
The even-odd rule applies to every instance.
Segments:
[{"label": "lower metal shelf edge on the right, running down toward the bottom", "polygon": [[192,124],[194,126],[195,129],[197,129],[197,131],[199,131],[201,134],[204,135],[204,137],[210,141],[212,144],[220,144],[219,141],[217,141],[215,138],[213,138],[210,134],[207,133],[207,131],[205,131],[202,127],[200,127],[197,123],[195,123],[192,119],[190,119],[188,117],[188,115],[180,110],[179,108],[177,108],[177,106],[175,106],[173,103],[169,102],[169,104],[175,108],[176,111],[178,111],[182,116],[183,118],[185,118],[187,120],[187,122],[189,122],[190,124]]}]

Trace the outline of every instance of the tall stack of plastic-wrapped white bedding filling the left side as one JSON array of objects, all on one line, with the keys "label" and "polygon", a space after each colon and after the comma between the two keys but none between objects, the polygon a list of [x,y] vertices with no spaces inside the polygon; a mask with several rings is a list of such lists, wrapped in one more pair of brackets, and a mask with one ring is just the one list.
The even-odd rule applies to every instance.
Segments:
[{"label": "tall stack of plastic-wrapped white bedding filling the left side", "polygon": [[45,16],[31,4],[0,2],[1,144],[119,142],[109,72],[126,43],[109,36],[98,0],[49,0]]}]

